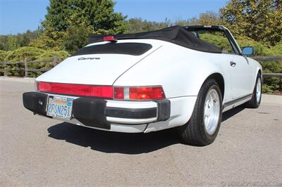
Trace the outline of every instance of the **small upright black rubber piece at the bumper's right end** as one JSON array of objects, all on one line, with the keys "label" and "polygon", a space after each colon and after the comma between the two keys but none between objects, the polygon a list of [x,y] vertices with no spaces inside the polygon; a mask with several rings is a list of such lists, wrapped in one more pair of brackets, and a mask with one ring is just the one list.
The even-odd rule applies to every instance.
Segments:
[{"label": "small upright black rubber piece at the bumper's right end", "polygon": [[155,101],[158,105],[157,121],[166,121],[171,116],[171,101],[168,99]]}]

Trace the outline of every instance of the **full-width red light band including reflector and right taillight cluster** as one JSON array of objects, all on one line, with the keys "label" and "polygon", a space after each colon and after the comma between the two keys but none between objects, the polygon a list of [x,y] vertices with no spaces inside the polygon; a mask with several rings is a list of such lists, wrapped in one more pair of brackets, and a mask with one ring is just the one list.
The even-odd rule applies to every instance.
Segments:
[{"label": "full-width red light band including reflector and right taillight cluster", "polygon": [[97,86],[88,84],[35,82],[35,89],[47,93],[113,98],[118,100],[144,101],[165,98],[164,90],[161,86]]}]

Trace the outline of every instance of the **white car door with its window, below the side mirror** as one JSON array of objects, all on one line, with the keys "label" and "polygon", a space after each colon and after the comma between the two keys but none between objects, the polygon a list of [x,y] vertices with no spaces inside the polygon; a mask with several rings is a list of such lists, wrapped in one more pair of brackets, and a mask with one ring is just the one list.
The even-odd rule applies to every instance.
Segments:
[{"label": "white car door with its window, below the side mirror", "polygon": [[[197,37],[213,44],[215,47],[221,49],[221,68],[231,81],[227,85],[228,90],[227,99],[240,98],[250,94],[250,86],[252,85],[252,67],[240,53],[239,46],[232,34],[226,28],[206,28],[204,30],[197,30]],[[218,60],[218,59],[216,59]]]}]

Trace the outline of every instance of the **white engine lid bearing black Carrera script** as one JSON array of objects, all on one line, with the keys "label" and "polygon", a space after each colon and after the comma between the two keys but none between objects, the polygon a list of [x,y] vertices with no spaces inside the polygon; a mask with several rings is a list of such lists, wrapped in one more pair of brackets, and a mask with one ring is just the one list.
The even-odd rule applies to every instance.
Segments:
[{"label": "white engine lid bearing black Carrera script", "polygon": [[[135,40],[131,40],[135,42]],[[121,41],[125,42],[125,41]],[[105,44],[100,42],[91,45]],[[152,49],[141,56],[99,54],[71,56],[59,63],[56,68],[37,77],[39,82],[63,82],[70,84],[111,85],[123,72],[138,63],[160,47],[159,42],[152,42]],[[99,60],[78,60],[78,58],[99,58]],[[74,76],[75,75],[75,76]]]}]

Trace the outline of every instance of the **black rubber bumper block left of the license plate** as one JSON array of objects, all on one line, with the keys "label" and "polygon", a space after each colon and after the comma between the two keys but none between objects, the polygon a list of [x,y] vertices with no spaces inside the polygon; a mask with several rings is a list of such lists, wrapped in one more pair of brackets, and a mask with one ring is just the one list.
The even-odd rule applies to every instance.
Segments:
[{"label": "black rubber bumper block left of the license plate", "polygon": [[23,93],[23,106],[38,115],[46,115],[48,95],[36,91]]}]

